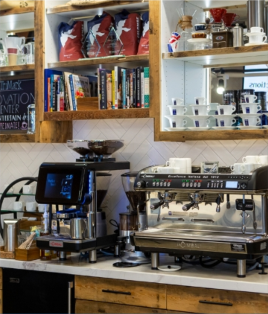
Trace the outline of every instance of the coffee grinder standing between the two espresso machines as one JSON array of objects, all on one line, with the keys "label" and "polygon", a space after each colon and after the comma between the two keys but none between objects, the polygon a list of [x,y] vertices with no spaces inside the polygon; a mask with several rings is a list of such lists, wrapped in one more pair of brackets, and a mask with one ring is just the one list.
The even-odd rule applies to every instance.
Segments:
[{"label": "coffee grinder standing between the two espresso machines", "polygon": [[[134,190],[134,182],[138,172],[128,172],[121,175],[124,191],[129,200],[128,212],[120,213],[120,228],[118,246],[121,247],[118,255],[123,263],[114,266],[130,267],[151,263],[151,259],[143,252],[135,251],[130,243],[130,233],[147,229],[146,192]],[[117,246],[117,247],[118,247]],[[115,254],[116,255],[116,254]]]}]

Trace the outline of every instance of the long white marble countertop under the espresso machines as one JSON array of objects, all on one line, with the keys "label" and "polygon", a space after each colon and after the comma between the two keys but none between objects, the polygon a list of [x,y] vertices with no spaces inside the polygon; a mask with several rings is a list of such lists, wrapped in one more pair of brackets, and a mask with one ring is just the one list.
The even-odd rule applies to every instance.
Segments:
[{"label": "long white marble countertop under the espresso machines", "polygon": [[[151,264],[124,269],[112,266],[119,261],[113,257],[100,257],[96,264],[89,264],[80,261],[78,254],[72,254],[64,262],[58,259],[31,262],[0,259],[0,267],[268,294],[268,275],[259,275],[259,270],[248,272],[245,278],[237,278],[236,265],[221,263],[212,269],[205,269],[183,263],[178,271],[163,272],[152,270]],[[173,258],[161,256],[161,265],[173,262]]]}]

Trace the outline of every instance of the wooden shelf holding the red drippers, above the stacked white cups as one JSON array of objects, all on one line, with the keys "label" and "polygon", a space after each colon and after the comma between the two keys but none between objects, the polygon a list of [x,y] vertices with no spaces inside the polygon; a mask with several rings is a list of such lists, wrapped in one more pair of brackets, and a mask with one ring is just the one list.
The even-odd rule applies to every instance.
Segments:
[{"label": "wooden shelf holding the red drippers, above the stacked white cups", "polygon": [[163,53],[162,58],[188,61],[204,68],[262,64],[268,62],[268,45],[178,51]]}]

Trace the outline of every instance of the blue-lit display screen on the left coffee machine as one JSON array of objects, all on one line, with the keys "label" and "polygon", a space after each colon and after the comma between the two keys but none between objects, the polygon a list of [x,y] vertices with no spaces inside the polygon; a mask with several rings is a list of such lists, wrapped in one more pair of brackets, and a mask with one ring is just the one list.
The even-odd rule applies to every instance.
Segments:
[{"label": "blue-lit display screen on the left coffee machine", "polygon": [[71,199],[73,175],[48,174],[45,197]]}]

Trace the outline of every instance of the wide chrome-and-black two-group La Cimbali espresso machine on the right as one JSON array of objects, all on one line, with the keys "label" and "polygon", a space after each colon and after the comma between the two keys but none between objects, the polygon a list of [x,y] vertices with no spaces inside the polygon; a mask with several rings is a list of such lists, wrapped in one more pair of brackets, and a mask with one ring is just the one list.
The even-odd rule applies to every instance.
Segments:
[{"label": "wide chrome-and-black two-group La Cimbali espresso machine on the right", "polygon": [[148,167],[137,175],[135,190],[147,192],[149,198],[148,228],[130,235],[136,251],[151,252],[152,269],[159,267],[159,253],[168,253],[185,262],[185,256],[198,257],[204,267],[206,258],[214,265],[237,263],[238,277],[246,276],[246,260],[256,259],[265,273],[268,166],[247,175],[157,169]]}]

